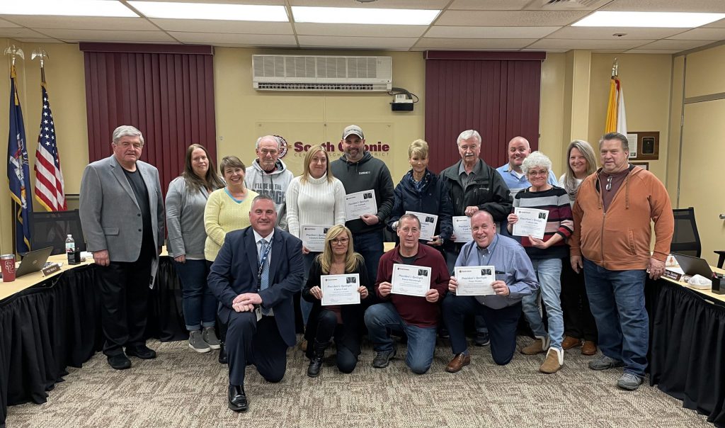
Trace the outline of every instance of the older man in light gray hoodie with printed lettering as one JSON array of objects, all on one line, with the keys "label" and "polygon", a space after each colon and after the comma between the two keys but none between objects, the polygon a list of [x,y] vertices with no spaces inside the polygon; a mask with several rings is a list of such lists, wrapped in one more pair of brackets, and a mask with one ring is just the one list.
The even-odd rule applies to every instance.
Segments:
[{"label": "older man in light gray hoodie with printed lettering", "polygon": [[286,194],[294,174],[279,158],[282,154],[282,139],[273,135],[262,136],[254,147],[257,159],[245,171],[244,186],[272,198],[277,210],[276,226],[286,231]]}]

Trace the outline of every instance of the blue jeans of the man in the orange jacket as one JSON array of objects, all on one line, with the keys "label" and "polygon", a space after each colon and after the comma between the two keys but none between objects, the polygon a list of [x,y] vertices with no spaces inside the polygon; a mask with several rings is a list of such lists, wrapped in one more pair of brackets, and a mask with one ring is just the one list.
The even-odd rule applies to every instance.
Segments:
[{"label": "blue jeans of the man in the orange jacket", "polygon": [[597,321],[599,348],[624,361],[625,373],[645,376],[650,317],[645,309],[647,271],[610,271],[584,259],[589,308]]}]

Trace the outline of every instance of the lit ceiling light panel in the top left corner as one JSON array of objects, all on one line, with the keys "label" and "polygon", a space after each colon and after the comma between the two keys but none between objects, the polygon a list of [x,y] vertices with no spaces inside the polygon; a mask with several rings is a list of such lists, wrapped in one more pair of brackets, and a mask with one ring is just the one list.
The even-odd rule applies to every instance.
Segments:
[{"label": "lit ceiling light panel in the top left corner", "polygon": [[105,0],[4,0],[2,15],[59,15],[76,17],[138,17],[118,1]]}]

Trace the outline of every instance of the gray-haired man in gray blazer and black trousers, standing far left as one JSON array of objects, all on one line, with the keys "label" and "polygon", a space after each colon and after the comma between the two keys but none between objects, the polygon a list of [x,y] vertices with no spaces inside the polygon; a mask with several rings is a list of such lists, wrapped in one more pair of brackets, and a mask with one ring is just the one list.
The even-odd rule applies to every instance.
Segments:
[{"label": "gray-haired man in gray blazer and black trousers, standing far left", "polygon": [[80,221],[97,266],[103,353],[114,369],[128,369],[126,355],[156,358],[146,347],[144,330],[164,239],[164,205],[159,171],[138,160],[144,149],[141,131],[119,126],[111,147],[113,155],[83,171]]}]

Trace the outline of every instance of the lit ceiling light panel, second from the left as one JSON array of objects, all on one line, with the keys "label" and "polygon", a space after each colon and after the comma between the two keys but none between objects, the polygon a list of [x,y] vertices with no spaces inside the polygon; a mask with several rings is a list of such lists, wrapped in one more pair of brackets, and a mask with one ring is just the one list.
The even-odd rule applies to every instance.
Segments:
[{"label": "lit ceiling light panel, second from the left", "polygon": [[129,1],[128,4],[149,18],[289,22],[283,6],[168,1]]}]

